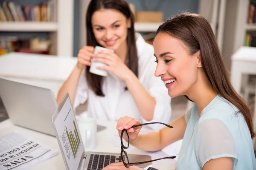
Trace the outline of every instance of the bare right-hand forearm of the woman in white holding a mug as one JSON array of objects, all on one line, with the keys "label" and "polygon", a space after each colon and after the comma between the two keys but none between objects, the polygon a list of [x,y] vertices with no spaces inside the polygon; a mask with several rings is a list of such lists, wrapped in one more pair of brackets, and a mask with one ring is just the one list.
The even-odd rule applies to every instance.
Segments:
[{"label": "bare right-hand forearm of the woman in white holding a mug", "polygon": [[156,105],[155,99],[148,94],[133,72],[127,76],[124,82],[131,93],[131,96],[133,97],[143,119],[147,121],[152,120]]}]

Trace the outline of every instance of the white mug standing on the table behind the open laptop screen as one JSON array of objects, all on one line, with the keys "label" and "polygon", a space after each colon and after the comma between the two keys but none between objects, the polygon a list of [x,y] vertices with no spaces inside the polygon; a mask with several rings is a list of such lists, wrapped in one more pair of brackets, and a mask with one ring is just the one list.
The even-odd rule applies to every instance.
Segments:
[{"label": "white mug standing on the table behind the open laptop screen", "polygon": [[77,125],[84,144],[85,151],[93,150],[96,146],[97,121],[89,117],[79,117]]}]

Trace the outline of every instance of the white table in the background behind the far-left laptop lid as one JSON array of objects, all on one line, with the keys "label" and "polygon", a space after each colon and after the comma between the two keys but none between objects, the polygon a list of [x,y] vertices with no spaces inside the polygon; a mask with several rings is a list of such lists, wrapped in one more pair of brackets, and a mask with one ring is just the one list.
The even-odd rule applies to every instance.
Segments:
[{"label": "white table in the background behind the far-left laptop lid", "polygon": [[12,52],[0,57],[0,77],[49,88],[57,96],[77,57]]}]

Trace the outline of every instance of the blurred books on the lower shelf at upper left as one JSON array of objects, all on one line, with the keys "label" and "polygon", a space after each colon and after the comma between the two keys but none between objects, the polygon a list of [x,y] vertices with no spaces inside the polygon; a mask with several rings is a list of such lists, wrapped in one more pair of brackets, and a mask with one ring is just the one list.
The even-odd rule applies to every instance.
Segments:
[{"label": "blurred books on the lower shelf at upper left", "polygon": [[44,38],[19,39],[18,37],[0,37],[0,55],[16,51],[36,54],[52,54],[51,40]]}]

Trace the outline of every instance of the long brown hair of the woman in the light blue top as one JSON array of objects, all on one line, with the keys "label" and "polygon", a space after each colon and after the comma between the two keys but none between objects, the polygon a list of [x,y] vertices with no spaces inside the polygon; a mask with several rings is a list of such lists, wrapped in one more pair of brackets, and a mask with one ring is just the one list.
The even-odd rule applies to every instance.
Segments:
[{"label": "long brown hair of the woman in the light blue top", "polygon": [[239,113],[244,116],[253,139],[255,131],[253,129],[252,113],[245,100],[236,93],[231,85],[218,43],[207,20],[198,14],[178,14],[162,23],[156,34],[159,32],[168,33],[181,40],[188,47],[190,55],[201,51],[202,68],[209,84],[217,94],[220,94],[238,108]]}]

